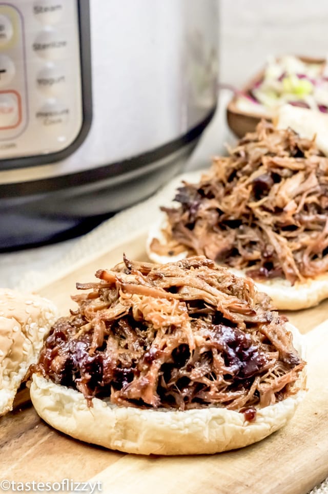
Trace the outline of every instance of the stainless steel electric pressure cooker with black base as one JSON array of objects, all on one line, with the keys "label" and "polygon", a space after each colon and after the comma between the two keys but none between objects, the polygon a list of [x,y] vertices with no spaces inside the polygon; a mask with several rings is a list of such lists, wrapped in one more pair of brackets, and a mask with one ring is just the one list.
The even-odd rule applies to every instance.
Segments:
[{"label": "stainless steel electric pressure cooker with black base", "polygon": [[217,0],[0,2],[0,249],[178,173],[217,99]]}]

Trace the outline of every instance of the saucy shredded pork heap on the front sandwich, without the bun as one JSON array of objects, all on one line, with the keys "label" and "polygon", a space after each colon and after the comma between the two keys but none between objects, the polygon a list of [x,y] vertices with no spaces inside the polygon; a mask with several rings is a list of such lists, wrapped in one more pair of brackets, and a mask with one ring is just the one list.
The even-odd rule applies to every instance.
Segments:
[{"label": "saucy shredded pork heap on the front sandwich, without the bun", "polygon": [[224,406],[255,416],[298,391],[304,362],[250,278],[204,257],[129,261],[77,283],[30,373],[124,406]]}]

